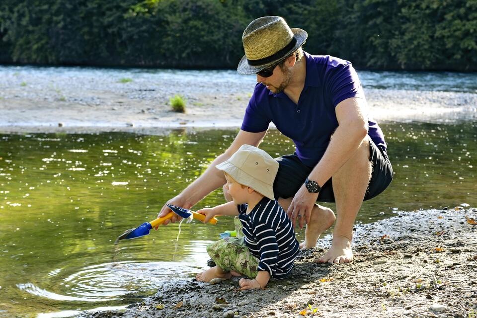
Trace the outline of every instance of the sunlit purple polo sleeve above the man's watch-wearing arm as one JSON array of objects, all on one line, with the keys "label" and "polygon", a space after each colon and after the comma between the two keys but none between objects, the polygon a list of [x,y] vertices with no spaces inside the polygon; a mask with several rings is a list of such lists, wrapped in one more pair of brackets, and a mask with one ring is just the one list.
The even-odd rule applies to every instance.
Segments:
[{"label": "sunlit purple polo sleeve above the man's watch-wearing arm", "polygon": [[358,74],[349,62],[330,64],[326,70],[325,85],[334,107],[347,98],[365,98]]}]

